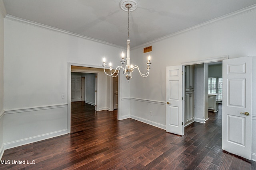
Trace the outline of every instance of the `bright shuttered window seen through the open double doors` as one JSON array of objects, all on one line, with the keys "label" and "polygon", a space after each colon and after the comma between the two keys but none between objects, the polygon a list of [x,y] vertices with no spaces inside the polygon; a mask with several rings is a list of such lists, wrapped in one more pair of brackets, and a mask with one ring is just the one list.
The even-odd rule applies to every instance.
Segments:
[{"label": "bright shuttered window seen through the open double doors", "polygon": [[208,79],[208,93],[219,93],[219,101],[222,101],[222,77]]}]

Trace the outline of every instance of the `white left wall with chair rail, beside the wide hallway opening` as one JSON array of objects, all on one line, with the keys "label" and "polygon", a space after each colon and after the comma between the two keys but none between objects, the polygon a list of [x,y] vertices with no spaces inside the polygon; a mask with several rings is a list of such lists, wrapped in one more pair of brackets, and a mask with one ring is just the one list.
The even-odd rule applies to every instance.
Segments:
[{"label": "white left wall with chair rail, beside the wide hallway opening", "polygon": [[67,133],[68,63],[117,65],[124,51],[38,25],[4,19],[5,148]]}]

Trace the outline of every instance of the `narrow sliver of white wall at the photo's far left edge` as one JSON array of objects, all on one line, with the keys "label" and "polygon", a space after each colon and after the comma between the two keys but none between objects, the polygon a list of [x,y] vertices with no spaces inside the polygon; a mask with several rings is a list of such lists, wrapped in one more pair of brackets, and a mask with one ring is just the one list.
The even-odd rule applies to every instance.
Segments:
[{"label": "narrow sliver of white wall at the photo's far left edge", "polygon": [[0,0],[0,158],[4,153],[4,5]]}]

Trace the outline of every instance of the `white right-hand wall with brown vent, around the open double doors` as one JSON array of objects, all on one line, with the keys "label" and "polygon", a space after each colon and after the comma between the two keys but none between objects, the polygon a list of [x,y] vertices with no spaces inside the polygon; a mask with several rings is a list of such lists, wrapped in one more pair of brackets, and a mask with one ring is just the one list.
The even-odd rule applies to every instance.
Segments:
[{"label": "white right-hand wall with brown vent, around the open double doors", "polygon": [[[157,107],[158,119],[154,119],[152,124],[165,125],[166,109],[162,104],[166,100],[166,66],[225,55],[228,55],[229,58],[256,56],[255,18],[256,10],[244,12],[132,49],[131,63],[144,69],[146,68],[147,53],[143,54],[143,48],[152,45],[150,75],[147,78],[141,78],[134,71],[134,78],[130,80],[130,98],[141,99],[136,101],[136,104],[130,100],[130,108],[138,110],[138,112],[131,111],[131,114],[139,119],[150,121],[148,111]],[[140,111],[145,107],[144,100],[147,102],[146,111],[141,113]],[[150,101],[159,101],[160,103],[156,106],[150,104]],[[255,127],[255,125],[253,126]],[[255,128],[253,133],[256,133]],[[256,145],[253,150],[255,153]]]}]

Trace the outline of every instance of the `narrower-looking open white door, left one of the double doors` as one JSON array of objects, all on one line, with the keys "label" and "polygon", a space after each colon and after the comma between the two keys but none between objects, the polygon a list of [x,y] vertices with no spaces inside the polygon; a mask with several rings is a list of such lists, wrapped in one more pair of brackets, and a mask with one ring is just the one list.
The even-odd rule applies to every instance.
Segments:
[{"label": "narrower-looking open white door, left one of the double doors", "polygon": [[166,132],[184,135],[182,120],[182,66],[168,66],[166,67]]}]

